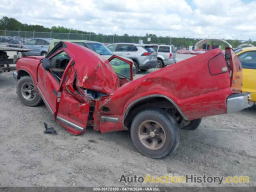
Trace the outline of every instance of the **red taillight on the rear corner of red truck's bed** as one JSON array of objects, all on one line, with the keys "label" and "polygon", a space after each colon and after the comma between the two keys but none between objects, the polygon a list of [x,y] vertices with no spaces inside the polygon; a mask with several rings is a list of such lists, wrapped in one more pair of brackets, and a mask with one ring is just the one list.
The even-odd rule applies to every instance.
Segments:
[{"label": "red taillight on the rear corner of red truck's bed", "polygon": [[218,75],[228,72],[228,65],[223,55],[220,53],[208,62],[211,75]]}]

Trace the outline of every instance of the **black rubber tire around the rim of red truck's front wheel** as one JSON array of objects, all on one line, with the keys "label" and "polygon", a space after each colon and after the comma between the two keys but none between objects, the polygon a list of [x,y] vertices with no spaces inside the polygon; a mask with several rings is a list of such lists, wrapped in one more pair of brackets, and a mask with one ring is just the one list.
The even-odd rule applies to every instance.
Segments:
[{"label": "black rubber tire around the rim of red truck's front wheel", "polygon": [[40,105],[42,103],[42,98],[36,92],[35,86],[34,86],[34,91],[32,91],[34,96],[31,97],[31,100],[25,98],[25,96],[24,96],[25,91],[23,91],[23,90],[26,88],[26,84],[29,84],[30,86],[31,85],[34,86],[33,80],[30,76],[23,76],[22,78],[20,78],[18,80],[17,94],[18,94],[20,100],[22,101],[22,103],[24,103],[27,106],[35,107],[35,106]]}]

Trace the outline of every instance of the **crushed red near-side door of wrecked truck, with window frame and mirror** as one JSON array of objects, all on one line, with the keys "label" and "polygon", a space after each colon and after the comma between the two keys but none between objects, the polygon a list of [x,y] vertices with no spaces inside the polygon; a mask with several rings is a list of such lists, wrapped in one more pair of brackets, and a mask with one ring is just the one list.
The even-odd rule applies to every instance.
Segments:
[{"label": "crushed red near-side door of wrecked truck, with window frame and mirror", "polygon": [[71,134],[82,134],[87,126],[89,103],[73,96],[73,86],[68,88],[75,78],[74,63],[73,54],[62,43],[56,45],[38,66],[37,89],[54,119]]}]

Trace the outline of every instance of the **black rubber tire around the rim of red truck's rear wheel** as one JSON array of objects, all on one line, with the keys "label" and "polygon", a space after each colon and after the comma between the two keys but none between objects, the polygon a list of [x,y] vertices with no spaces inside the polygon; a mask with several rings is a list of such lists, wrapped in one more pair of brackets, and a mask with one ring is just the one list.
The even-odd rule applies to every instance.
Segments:
[{"label": "black rubber tire around the rim of red truck's rear wheel", "polygon": [[[139,135],[142,128],[141,125],[145,121],[154,121],[164,130],[165,142],[159,149],[156,148],[152,150],[146,147],[145,144],[143,144],[143,142],[141,141]],[[168,116],[168,113],[162,109],[147,109],[137,114],[132,121],[130,131],[132,141],[138,151],[141,152],[143,155],[154,159],[161,159],[170,154],[173,154],[174,151],[177,149],[180,141],[180,129],[178,128],[177,122],[174,120],[174,118],[172,118],[172,116]]]}]

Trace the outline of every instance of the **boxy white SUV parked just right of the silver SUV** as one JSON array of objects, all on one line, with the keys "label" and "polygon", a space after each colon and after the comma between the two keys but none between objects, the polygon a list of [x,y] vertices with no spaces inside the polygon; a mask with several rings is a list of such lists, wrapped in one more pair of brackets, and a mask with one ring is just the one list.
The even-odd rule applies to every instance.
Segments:
[{"label": "boxy white SUV parked just right of the silver SUV", "polygon": [[176,50],[173,45],[150,45],[157,52],[156,68],[162,68],[164,66],[176,63]]}]

